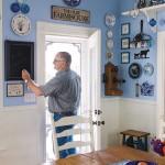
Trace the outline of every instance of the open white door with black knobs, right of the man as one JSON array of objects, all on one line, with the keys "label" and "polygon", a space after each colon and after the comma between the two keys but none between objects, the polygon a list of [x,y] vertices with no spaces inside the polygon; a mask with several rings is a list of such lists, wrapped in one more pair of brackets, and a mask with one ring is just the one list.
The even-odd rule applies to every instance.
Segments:
[{"label": "open white door with black knobs, right of the man", "polygon": [[[94,117],[94,130],[95,130],[95,150],[100,150],[100,128],[99,122],[101,121],[100,116],[100,56],[98,45],[100,45],[99,41],[99,32],[95,32],[88,38],[88,97],[89,100],[86,101],[89,105],[89,110],[92,110]],[[86,70],[86,68],[84,68]]]}]

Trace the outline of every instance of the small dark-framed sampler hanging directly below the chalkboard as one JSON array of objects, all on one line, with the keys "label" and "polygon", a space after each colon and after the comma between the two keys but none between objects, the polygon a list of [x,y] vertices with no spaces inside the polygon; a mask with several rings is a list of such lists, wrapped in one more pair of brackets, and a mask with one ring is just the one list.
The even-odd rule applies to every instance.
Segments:
[{"label": "small dark-framed sampler hanging directly below the chalkboard", "polygon": [[7,84],[7,97],[21,97],[24,96],[24,85],[19,84]]}]

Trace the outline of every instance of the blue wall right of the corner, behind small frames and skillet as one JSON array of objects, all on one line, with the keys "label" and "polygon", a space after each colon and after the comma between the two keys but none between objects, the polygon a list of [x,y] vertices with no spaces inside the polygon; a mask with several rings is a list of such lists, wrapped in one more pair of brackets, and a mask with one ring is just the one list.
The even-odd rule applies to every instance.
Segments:
[{"label": "blue wall right of the corner, behind small frames and skillet", "polygon": [[[120,13],[123,11],[130,11],[133,9],[134,1],[130,0],[123,0],[122,3],[124,6],[121,6],[120,8]],[[163,19],[164,12],[158,12],[157,13],[157,31],[164,31],[165,25],[160,24],[160,20]],[[146,48],[136,48],[136,50],[127,50],[127,52],[130,52],[130,64],[131,63],[139,63],[142,67],[142,74],[138,79],[132,79],[130,78],[128,74],[128,69],[130,64],[121,64],[120,65],[120,75],[122,78],[127,80],[124,85],[121,86],[121,89],[124,91],[123,97],[124,98],[136,98],[135,97],[135,84],[142,85],[144,81],[148,81],[150,84],[154,85],[154,96],[142,96],[140,92],[140,96],[138,99],[145,99],[145,100],[156,100],[156,75],[157,75],[157,33],[153,33],[151,30],[151,26],[147,23],[147,19],[144,14],[139,14],[136,19],[133,19],[132,16],[125,16],[125,15],[120,15],[121,18],[121,24],[122,23],[131,23],[131,34],[128,35],[131,40],[140,33],[140,21],[143,20],[144,26],[143,26],[143,32],[145,34],[148,34],[152,36],[152,45],[150,47],[150,53],[148,57],[146,59],[134,59],[134,53],[139,53],[141,50],[146,50]],[[123,37],[120,35],[120,37]],[[121,50],[121,52],[124,52]],[[146,63],[151,63],[154,66],[154,74],[152,76],[145,76],[143,74],[143,67]]]}]

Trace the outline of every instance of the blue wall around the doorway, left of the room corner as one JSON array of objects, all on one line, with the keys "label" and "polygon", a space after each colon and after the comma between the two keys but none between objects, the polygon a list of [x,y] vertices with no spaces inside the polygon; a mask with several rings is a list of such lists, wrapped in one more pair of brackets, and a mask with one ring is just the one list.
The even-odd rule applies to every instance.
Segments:
[{"label": "blue wall around the doorway, left of the room corner", "polygon": [[[11,29],[11,20],[15,15],[10,10],[10,6],[15,2],[15,0],[3,0],[3,7],[2,7],[2,14],[3,14],[3,23],[2,23],[2,33],[3,33],[3,41],[9,37],[11,41],[36,41],[36,21],[43,21],[43,22],[52,22],[52,23],[58,23],[58,24],[70,24],[70,25],[80,25],[80,26],[88,26],[88,28],[98,28],[101,30],[101,75],[105,72],[103,65],[107,63],[107,59],[105,57],[106,52],[108,51],[106,47],[106,41],[108,40],[106,33],[108,30],[111,30],[113,32],[113,42],[114,42],[114,58],[112,59],[112,63],[114,65],[118,65],[119,63],[119,54],[120,54],[120,42],[119,38],[119,23],[120,19],[117,19],[117,23],[113,28],[109,29],[105,24],[105,16],[107,13],[113,13],[116,18],[119,18],[120,13],[118,10],[119,3],[118,1],[110,1],[110,0],[81,0],[81,3],[74,8],[74,9],[80,9],[80,10],[87,10],[90,11],[90,24],[84,24],[84,23],[76,23],[76,22],[68,22],[68,21],[57,21],[57,20],[52,20],[51,19],[51,6],[59,6],[59,7],[68,7],[63,0],[35,0],[35,1],[25,1],[30,6],[30,12],[26,14],[29,19],[32,22],[32,30],[29,35],[26,36],[19,36],[15,35],[12,32]],[[19,12],[21,13],[21,12]],[[16,14],[19,14],[16,13]],[[3,43],[4,46],[4,43]],[[3,55],[4,55],[4,50],[3,50]],[[36,54],[35,54],[36,56]],[[3,62],[4,62],[4,56],[3,56]],[[4,63],[3,63],[4,64]],[[4,68],[4,66],[3,66]],[[3,70],[4,72],[4,70]],[[35,70],[36,73],[36,70]],[[20,73],[21,74],[21,73]],[[100,76],[101,76],[100,75]],[[3,74],[3,79],[4,79],[4,74]],[[4,106],[22,106],[22,105],[28,105],[24,102],[24,97],[7,97],[7,84],[11,82],[18,82],[18,81],[4,81],[3,82],[3,105]],[[19,81],[20,82],[20,81]],[[101,96],[103,97],[103,84],[102,84],[102,94]],[[25,92],[28,92],[25,90]],[[31,105],[31,103],[30,103]]]}]

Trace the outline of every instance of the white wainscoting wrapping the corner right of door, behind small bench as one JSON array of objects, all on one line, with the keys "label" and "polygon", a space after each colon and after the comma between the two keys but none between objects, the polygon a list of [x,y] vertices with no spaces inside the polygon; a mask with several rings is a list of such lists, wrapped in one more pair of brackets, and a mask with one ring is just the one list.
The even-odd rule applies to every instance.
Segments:
[{"label": "white wainscoting wrapping the corner right of door, behind small bench", "polygon": [[101,100],[101,148],[121,144],[120,131],[132,129],[156,134],[156,102],[139,99],[105,98]]}]

